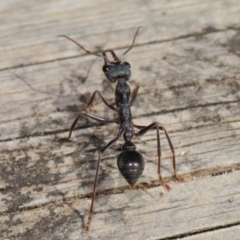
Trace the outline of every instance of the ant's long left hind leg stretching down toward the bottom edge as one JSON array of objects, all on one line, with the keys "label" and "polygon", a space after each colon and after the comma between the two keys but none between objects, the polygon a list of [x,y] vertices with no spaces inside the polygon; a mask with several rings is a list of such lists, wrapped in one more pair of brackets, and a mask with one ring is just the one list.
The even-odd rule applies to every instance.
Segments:
[{"label": "ant's long left hind leg stretching down toward the bottom edge", "polygon": [[109,148],[111,147],[118,139],[119,137],[122,135],[124,129],[119,130],[117,136],[111,140],[108,144],[106,144],[99,152],[98,152],[98,162],[97,162],[97,170],[96,170],[96,174],[95,174],[95,179],[94,179],[94,184],[93,184],[93,192],[92,192],[92,201],[91,201],[91,206],[89,209],[89,215],[88,215],[88,221],[85,227],[85,232],[89,231],[89,227],[90,227],[90,223],[92,220],[92,215],[93,215],[93,205],[94,205],[94,201],[96,198],[96,192],[97,192],[97,179],[98,179],[98,170],[100,167],[100,161],[101,161],[101,157],[102,154]]}]

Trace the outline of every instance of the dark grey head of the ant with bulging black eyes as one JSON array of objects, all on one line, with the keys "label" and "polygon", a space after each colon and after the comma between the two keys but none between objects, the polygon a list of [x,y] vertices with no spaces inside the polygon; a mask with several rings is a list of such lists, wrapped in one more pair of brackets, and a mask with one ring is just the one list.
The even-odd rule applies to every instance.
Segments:
[{"label": "dark grey head of the ant with bulging black eyes", "polygon": [[120,78],[124,78],[126,81],[130,79],[131,66],[128,62],[121,62],[120,60],[107,62],[106,59],[104,60],[105,60],[105,64],[103,65],[102,70],[106,78],[111,83],[115,83]]}]

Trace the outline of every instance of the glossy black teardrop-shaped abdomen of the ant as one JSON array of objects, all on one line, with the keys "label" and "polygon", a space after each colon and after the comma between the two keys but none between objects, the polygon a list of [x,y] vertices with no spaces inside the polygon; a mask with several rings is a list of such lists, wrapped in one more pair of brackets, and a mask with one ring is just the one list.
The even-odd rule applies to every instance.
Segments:
[{"label": "glossy black teardrop-shaped abdomen of the ant", "polygon": [[133,186],[142,175],[145,162],[139,152],[135,150],[125,150],[119,154],[117,165],[123,177]]}]

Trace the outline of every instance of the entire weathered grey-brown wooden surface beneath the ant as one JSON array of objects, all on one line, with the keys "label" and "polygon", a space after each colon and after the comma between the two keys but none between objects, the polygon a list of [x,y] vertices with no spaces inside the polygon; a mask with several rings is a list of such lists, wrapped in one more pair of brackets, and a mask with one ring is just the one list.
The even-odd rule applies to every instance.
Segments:
[{"label": "entire weathered grey-brown wooden surface beneath the ant", "polygon": [[[92,51],[127,54],[134,122],[158,121],[169,132],[184,182],[171,178],[171,152],[156,133],[134,139],[145,170],[129,190],[116,159],[103,156],[91,230],[84,234],[97,151],[116,125],[81,119],[94,90],[114,102],[114,84]],[[240,4],[225,1],[0,2],[0,239],[239,239]],[[91,110],[114,113],[97,99]]]}]

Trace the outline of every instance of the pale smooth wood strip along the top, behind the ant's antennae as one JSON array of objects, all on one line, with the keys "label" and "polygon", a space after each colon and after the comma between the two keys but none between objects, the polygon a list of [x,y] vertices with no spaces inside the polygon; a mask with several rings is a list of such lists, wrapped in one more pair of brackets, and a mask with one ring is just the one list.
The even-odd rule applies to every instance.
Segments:
[{"label": "pale smooth wood strip along the top, behind the ant's antennae", "polygon": [[116,49],[128,46],[133,29],[141,25],[145,29],[138,43],[142,44],[239,28],[239,11],[235,0],[1,1],[0,66],[5,69],[76,56],[77,47],[58,40],[59,34],[90,43],[87,47],[91,49]]}]

